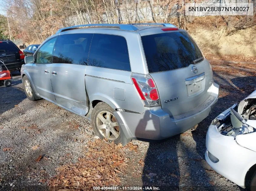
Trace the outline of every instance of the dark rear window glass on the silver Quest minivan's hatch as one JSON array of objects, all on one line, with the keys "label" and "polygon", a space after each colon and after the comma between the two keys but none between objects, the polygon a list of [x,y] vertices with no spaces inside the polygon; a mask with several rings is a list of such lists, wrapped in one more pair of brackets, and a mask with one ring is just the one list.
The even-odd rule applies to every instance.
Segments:
[{"label": "dark rear window glass on the silver Quest minivan's hatch", "polygon": [[141,40],[150,73],[187,67],[203,57],[187,32],[142,36]]}]

